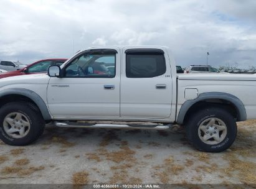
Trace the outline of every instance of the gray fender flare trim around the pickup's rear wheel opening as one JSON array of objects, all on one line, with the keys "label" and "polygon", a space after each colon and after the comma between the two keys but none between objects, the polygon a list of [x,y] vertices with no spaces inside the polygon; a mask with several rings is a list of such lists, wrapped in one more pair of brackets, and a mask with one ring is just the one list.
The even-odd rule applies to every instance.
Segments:
[{"label": "gray fender flare trim around the pickup's rear wheel opening", "polygon": [[240,101],[239,98],[229,93],[209,92],[199,94],[198,98],[186,101],[179,110],[179,115],[176,122],[178,122],[179,124],[183,124],[185,115],[189,108],[191,108],[191,106],[196,104],[197,102],[204,101],[206,99],[224,99],[226,101],[229,101],[230,103],[234,104],[235,108],[237,109],[237,121],[245,121],[247,119],[244,104],[242,103],[242,101]]}]

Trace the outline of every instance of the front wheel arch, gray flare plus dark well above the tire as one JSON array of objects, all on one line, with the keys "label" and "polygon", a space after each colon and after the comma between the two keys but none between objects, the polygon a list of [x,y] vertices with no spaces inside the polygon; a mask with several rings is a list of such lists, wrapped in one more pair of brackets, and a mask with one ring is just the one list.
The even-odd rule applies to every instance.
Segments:
[{"label": "front wheel arch, gray flare plus dark well above the tire", "polygon": [[52,119],[47,109],[47,106],[44,103],[44,100],[39,96],[39,94],[35,93],[34,91],[24,88],[11,88],[0,91],[0,107],[6,103],[20,100],[34,103],[40,110],[40,113],[42,114],[44,120]]}]

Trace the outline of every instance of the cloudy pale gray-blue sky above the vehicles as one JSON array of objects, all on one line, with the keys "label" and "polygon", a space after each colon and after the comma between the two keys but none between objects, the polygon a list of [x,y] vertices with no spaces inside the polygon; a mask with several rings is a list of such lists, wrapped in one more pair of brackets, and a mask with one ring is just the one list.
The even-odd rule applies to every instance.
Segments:
[{"label": "cloudy pale gray-blue sky above the vehicles", "polygon": [[[73,45],[72,45],[73,44]],[[0,60],[69,58],[102,45],[165,45],[178,65],[256,67],[255,0],[1,0]]]}]

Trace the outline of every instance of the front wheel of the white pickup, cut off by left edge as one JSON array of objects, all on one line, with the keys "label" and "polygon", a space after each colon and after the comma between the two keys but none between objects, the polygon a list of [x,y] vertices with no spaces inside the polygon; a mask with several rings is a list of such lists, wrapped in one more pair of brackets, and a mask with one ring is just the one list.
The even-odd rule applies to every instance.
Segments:
[{"label": "front wheel of the white pickup, cut off by left edge", "polygon": [[9,145],[28,145],[44,131],[44,120],[34,104],[7,103],[0,109],[0,139]]}]

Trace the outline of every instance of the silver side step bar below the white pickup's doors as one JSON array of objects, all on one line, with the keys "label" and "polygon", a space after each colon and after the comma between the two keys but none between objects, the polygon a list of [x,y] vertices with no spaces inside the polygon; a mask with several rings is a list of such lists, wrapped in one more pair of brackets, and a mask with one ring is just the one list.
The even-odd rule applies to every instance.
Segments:
[{"label": "silver side step bar below the white pickup's doors", "polygon": [[[119,122],[118,122],[119,123]],[[100,128],[100,129],[155,129],[165,130],[171,129],[173,124],[90,124],[83,122],[70,122],[70,121],[54,121],[57,127],[73,127],[73,128]]]}]

